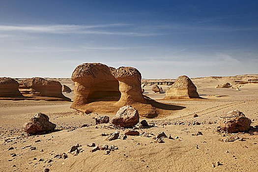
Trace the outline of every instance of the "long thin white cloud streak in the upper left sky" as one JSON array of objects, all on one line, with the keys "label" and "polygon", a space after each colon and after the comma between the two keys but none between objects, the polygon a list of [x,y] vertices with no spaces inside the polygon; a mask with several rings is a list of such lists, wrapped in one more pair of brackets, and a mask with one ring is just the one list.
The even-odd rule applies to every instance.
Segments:
[{"label": "long thin white cloud streak in the upper left sky", "polygon": [[[12,32],[34,32],[34,33],[53,33],[53,34],[106,34],[106,35],[125,35],[125,36],[151,36],[160,33],[132,32],[132,31],[109,31],[103,30],[111,27],[120,28],[131,26],[130,24],[105,24],[105,25],[0,25],[0,31]],[[93,30],[92,30],[93,29]],[[102,29],[102,30],[96,30]]]}]

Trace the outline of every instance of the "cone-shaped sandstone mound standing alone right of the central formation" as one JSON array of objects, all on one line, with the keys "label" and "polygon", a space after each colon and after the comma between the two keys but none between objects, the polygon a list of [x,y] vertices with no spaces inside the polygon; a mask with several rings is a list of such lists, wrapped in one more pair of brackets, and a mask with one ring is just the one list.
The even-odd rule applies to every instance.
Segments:
[{"label": "cone-shaped sandstone mound standing alone right of the central formation", "polygon": [[196,86],[187,76],[178,77],[174,84],[168,87],[165,99],[200,98]]}]

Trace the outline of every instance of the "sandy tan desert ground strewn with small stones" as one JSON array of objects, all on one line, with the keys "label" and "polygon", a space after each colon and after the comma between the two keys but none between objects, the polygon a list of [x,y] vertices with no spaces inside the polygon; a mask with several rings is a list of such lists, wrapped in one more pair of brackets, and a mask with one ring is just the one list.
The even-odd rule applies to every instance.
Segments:
[{"label": "sandy tan desert ground strewn with small stones", "polygon": [[[144,95],[185,108],[153,119],[141,117],[140,120],[155,124],[138,130],[140,134],[149,133],[150,137],[128,136],[125,140],[107,141],[107,136],[101,134],[117,129],[110,124],[94,125],[94,117],[108,115],[112,118],[115,114],[84,115],[70,109],[72,102],[65,101],[0,100],[0,171],[43,172],[48,168],[50,172],[258,172],[258,136],[230,134],[244,141],[224,143],[222,139],[229,134],[217,131],[219,116],[235,109],[252,120],[251,126],[258,125],[258,84],[242,85],[240,90],[215,88],[218,84],[246,81],[250,77],[257,78],[257,75],[193,79],[203,99],[163,100],[165,92],[155,94],[152,86],[144,86]],[[69,79],[57,81],[74,89]],[[168,86],[162,87],[166,90]],[[73,98],[73,92],[64,95]],[[58,130],[38,136],[25,134],[23,124],[38,112],[48,115]],[[194,114],[199,116],[194,118]],[[91,126],[82,127],[83,124]],[[198,131],[203,135],[196,136]],[[119,132],[123,134],[122,129]],[[153,137],[160,132],[171,134],[173,139],[157,143]],[[83,151],[77,156],[67,153],[77,143],[82,145]],[[102,150],[91,153],[89,143],[115,145],[118,149],[108,155]],[[36,149],[30,150],[31,146]],[[8,150],[10,147],[14,149]],[[66,159],[54,158],[63,152],[68,155]],[[221,165],[217,166],[217,162]]]}]

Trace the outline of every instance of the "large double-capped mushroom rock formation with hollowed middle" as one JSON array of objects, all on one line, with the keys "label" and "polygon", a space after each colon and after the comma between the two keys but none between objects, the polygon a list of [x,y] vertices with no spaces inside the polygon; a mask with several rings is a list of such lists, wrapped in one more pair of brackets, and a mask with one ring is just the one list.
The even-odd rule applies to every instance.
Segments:
[{"label": "large double-capped mushroom rock formation with hollowed middle", "polygon": [[86,114],[115,113],[120,107],[131,105],[144,117],[170,114],[175,106],[143,96],[141,78],[133,67],[115,69],[101,63],[81,64],[72,74],[75,88],[71,108]]}]

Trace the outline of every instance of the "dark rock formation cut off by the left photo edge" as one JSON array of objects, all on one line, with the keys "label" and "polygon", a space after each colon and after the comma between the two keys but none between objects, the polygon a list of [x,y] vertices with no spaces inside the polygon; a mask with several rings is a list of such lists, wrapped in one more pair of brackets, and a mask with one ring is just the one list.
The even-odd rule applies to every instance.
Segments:
[{"label": "dark rock formation cut off by the left photo edge", "polygon": [[12,78],[0,78],[0,97],[22,97],[19,83]]}]

